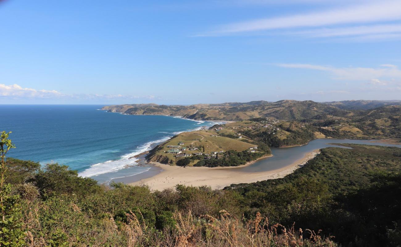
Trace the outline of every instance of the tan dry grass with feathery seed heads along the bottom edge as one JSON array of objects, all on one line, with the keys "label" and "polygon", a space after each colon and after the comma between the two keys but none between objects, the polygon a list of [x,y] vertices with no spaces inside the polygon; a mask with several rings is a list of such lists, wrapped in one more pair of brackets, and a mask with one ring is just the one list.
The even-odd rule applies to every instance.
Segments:
[{"label": "tan dry grass with feathery seed heads along the bottom edge", "polygon": [[[73,205],[76,210],[79,208]],[[113,217],[105,218],[97,231],[87,233],[87,241],[69,233],[68,228],[59,228],[58,234],[69,236],[65,245],[57,246],[126,246],[126,247],[331,247],[337,246],[330,238],[323,239],[314,231],[306,230],[309,237],[303,238],[301,229],[275,224],[257,213],[253,220],[238,220],[222,210],[219,218],[210,215],[194,217],[191,212],[176,212],[175,227],[157,231],[148,227],[141,212],[126,214],[127,221],[116,224]],[[39,223],[38,210],[32,209],[26,218],[28,246],[47,247],[51,236],[44,235]],[[35,232],[36,234],[32,234]],[[51,246],[56,246],[51,245]]]}]

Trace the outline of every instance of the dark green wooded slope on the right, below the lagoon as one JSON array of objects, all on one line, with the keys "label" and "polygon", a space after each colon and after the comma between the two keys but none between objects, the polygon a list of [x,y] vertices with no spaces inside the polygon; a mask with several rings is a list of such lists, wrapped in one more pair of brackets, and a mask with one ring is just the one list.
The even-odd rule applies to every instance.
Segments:
[{"label": "dark green wooded slope on the right, below the lagoon", "polygon": [[346,246],[399,246],[401,149],[346,146],[322,149],[285,178],[227,189],[244,197],[246,216],[323,229]]}]

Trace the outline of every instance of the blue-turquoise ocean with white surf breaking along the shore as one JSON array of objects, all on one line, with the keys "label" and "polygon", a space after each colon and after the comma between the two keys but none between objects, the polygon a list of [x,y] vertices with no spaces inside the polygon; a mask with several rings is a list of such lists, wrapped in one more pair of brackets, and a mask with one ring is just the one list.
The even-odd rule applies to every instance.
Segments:
[{"label": "blue-turquoise ocean with white surf breaking along the shore", "polygon": [[[105,112],[98,105],[0,105],[0,131],[12,131],[9,157],[57,162],[103,182],[149,168],[128,159],[182,131],[215,122]],[[105,175],[106,174],[106,175]]]}]

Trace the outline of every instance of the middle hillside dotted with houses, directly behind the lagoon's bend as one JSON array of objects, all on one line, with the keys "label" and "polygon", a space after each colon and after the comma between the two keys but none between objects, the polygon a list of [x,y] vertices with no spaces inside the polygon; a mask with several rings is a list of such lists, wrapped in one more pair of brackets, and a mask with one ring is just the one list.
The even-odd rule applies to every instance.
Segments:
[{"label": "middle hillside dotted with houses, directly behind the lagoon's bend", "polygon": [[[211,133],[243,141],[257,141],[269,147],[288,147],[304,145],[316,138],[374,139],[378,135],[369,135],[358,129],[358,123],[342,120],[283,121],[277,119],[253,118],[218,125],[211,128]],[[364,129],[365,130],[365,129]]]}]

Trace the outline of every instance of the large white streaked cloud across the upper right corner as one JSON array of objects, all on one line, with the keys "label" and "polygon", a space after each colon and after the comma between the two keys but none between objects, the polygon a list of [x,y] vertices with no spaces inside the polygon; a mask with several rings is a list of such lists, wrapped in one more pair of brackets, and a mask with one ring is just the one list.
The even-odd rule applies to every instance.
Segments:
[{"label": "large white streaked cloud across the upper right corner", "polygon": [[[346,8],[227,24],[199,36],[230,35],[272,29],[325,27],[338,24],[373,23],[394,20],[401,20],[401,4],[399,0],[368,1],[365,4],[348,6]],[[356,27],[355,29],[358,28]],[[369,32],[367,29],[365,28],[365,31],[362,30],[359,32],[372,33],[372,31]],[[340,34],[341,32],[351,31],[350,29],[334,32]]]}]

